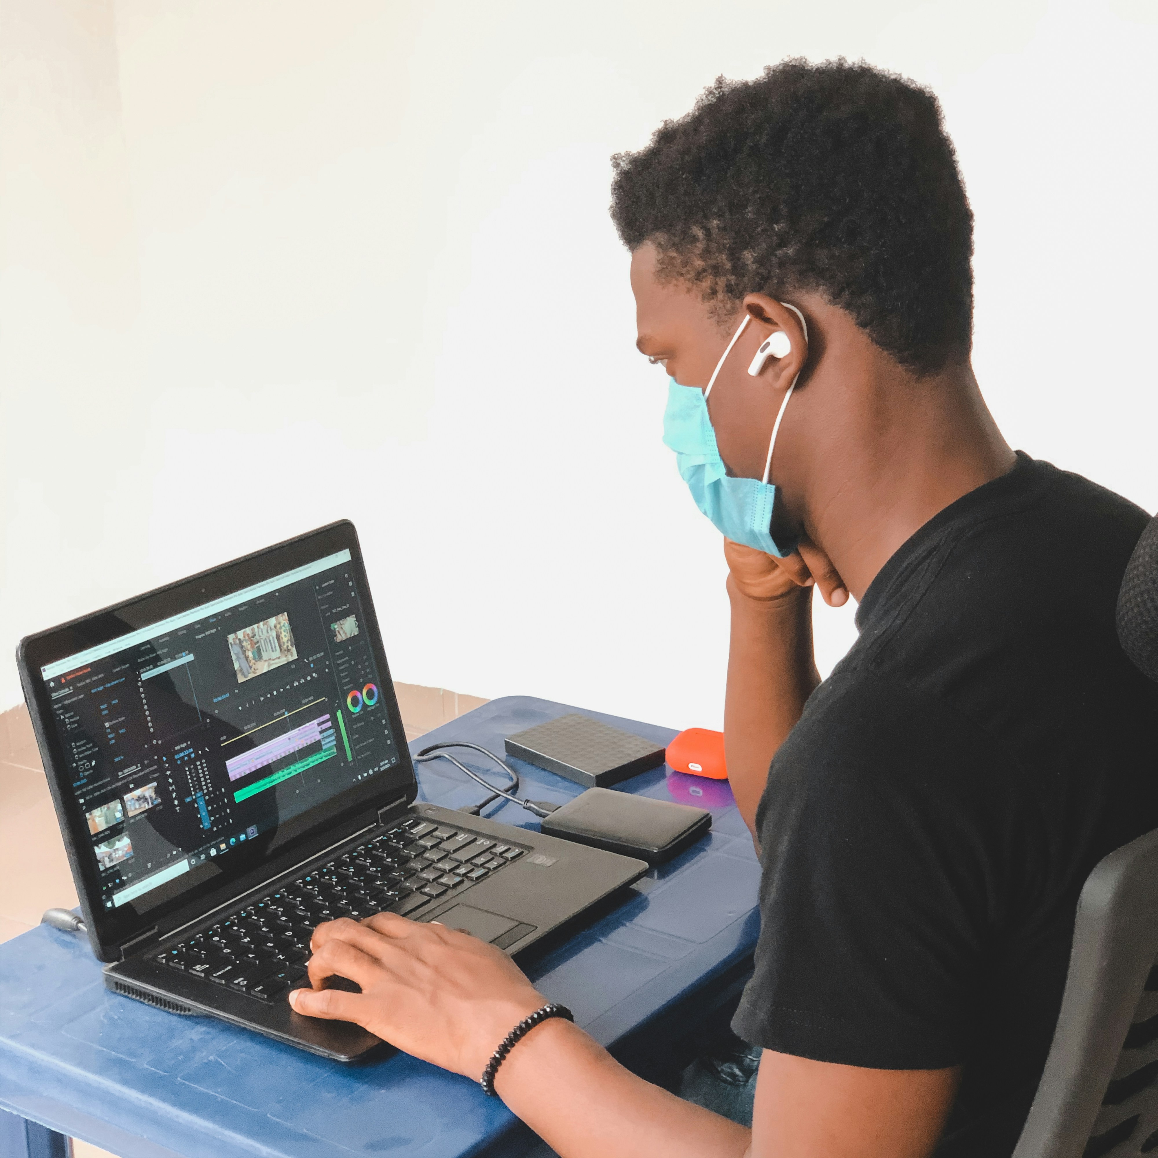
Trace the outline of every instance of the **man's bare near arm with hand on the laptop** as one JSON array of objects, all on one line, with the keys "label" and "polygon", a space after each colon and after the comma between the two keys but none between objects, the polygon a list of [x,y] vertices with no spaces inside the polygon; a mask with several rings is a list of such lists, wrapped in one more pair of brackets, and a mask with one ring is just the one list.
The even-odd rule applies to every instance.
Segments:
[{"label": "man's bare near arm with hand on the laptop", "polygon": [[[314,935],[310,980],[362,992],[298,990],[293,1006],[357,1024],[477,1079],[507,1031],[544,1003],[506,954],[467,933],[389,914]],[[764,1051],[753,1129],[625,1070],[577,1026],[549,1020],[499,1067],[496,1090],[563,1158],[926,1158],[955,1070],[870,1070]]]}]

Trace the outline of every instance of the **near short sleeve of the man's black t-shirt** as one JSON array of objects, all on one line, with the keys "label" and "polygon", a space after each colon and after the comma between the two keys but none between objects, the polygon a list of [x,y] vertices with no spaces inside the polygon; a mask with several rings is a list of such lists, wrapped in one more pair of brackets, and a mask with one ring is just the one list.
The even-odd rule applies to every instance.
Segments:
[{"label": "near short sleeve of the man's black t-shirt", "polygon": [[757,814],[761,932],[735,1032],[845,1065],[961,1063],[999,895],[985,786],[1006,772],[936,701],[821,684]]}]

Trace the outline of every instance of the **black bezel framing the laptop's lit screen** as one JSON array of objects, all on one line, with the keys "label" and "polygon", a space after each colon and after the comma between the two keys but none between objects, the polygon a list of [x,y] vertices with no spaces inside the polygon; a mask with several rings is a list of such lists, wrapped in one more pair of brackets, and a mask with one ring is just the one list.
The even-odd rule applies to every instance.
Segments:
[{"label": "black bezel framing the laptop's lit screen", "polygon": [[[365,628],[379,670],[383,708],[389,714],[390,728],[396,738],[400,756],[396,775],[384,780],[371,778],[356,784],[335,798],[335,807],[328,814],[313,815],[302,831],[279,845],[265,860],[237,877],[219,885],[206,881],[192,895],[178,895],[152,909],[139,911],[132,903],[118,909],[105,909],[97,902],[98,873],[93,858],[85,855],[91,842],[82,809],[71,791],[68,765],[57,735],[51,699],[41,676],[41,668],[343,549],[350,550]],[[418,794],[418,783],[382,645],[358,533],[349,520],[320,527],[199,574],[35,632],[20,642],[16,660],[73,879],[78,886],[89,941],[102,961],[122,960],[126,948],[134,950],[141,943],[153,943],[168,931],[204,918],[233,899],[244,896],[264,880],[281,875],[325,848],[376,823],[383,808],[402,812]],[[290,823],[293,824],[293,821]]]}]

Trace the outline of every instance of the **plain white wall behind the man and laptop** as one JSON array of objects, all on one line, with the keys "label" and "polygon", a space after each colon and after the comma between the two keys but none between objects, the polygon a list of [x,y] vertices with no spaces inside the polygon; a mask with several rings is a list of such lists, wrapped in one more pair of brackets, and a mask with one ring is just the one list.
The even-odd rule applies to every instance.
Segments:
[{"label": "plain white wall behind the man and laptop", "polygon": [[1153,510],[1156,12],[0,0],[0,653],[349,515],[397,679],[718,725],[608,157],[791,54],[936,89],[999,422]]}]

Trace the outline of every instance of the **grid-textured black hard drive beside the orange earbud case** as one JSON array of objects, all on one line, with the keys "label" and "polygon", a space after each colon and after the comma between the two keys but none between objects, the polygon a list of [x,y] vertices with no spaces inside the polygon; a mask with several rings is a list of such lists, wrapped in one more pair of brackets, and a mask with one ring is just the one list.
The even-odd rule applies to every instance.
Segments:
[{"label": "grid-textured black hard drive beside the orange earbud case", "polygon": [[508,756],[584,787],[607,787],[664,763],[664,747],[572,712],[506,738]]}]

